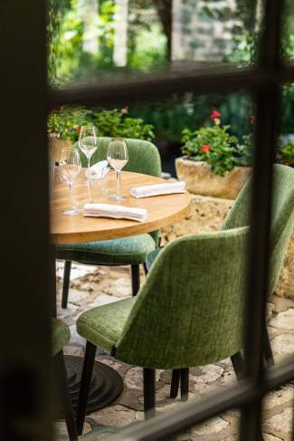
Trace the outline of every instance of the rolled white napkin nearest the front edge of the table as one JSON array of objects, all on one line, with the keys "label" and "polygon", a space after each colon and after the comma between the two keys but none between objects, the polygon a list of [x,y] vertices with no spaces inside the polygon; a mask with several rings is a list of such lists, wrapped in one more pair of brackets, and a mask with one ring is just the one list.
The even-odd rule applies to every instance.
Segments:
[{"label": "rolled white napkin nearest the front edge of the table", "polygon": [[116,206],[111,204],[86,204],[84,216],[113,217],[114,219],[130,219],[144,222],[147,219],[145,208],[132,206]]}]

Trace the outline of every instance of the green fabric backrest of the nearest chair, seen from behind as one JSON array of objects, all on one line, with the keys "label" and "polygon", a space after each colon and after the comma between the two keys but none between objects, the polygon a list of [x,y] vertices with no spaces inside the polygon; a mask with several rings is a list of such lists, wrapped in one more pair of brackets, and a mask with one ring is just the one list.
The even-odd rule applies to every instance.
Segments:
[{"label": "green fabric backrest of the nearest chair, seen from behind", "polygon": [[156,258],[116,345],[119,360],[173,369],[242,348],[248,227],[181,237]]}]

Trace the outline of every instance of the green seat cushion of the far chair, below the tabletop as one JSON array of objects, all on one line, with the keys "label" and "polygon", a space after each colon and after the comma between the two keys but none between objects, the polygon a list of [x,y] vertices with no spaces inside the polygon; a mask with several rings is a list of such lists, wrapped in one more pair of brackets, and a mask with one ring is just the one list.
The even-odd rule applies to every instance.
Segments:
[{"label": "green seat cushion of the far chair, below the tabletop", "polygon": [[155,248],[151,235],[132,235],[85,244],[60,244],[55,248],[55,257],[81,264],[143,264]]}]

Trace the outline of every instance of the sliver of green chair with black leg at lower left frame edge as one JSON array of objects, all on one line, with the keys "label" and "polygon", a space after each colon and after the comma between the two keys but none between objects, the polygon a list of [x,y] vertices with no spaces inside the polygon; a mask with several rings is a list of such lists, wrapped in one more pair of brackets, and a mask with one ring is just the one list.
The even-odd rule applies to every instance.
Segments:
[{"label": "sliver of green chair with black leg at lower left frame edge", "polygon": [[69,327],[61,320],[52,319],[52,356],[58,388],[62,399],[63,413],[70,441],[77,441],[77,428],[73,418],[67,371],[63,358],[63,347],[70,341]]}]

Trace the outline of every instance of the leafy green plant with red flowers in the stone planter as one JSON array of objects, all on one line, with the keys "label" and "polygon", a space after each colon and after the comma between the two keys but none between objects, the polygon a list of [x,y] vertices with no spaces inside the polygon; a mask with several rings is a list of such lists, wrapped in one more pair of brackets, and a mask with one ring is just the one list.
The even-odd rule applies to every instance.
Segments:
[{"label": "leafy green plant with red flowers in the stone planter", "polygon": [[194,161],[207,162],[216,175],[224,176],[236,165],[237,138],[230,135],[230,126],[222,126],[221,113],[213,110],[210,119],[213,126],[191,131],[184,129],[182,152]]}]

